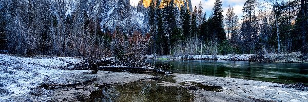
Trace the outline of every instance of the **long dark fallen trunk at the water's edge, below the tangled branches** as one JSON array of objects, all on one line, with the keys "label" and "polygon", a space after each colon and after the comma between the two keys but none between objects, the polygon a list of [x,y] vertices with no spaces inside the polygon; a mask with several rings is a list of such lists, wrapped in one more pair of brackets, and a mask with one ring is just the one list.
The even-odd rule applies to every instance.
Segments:
[{"label": "long dark fallen trunk at the water's edge, below the tangled branches", "polygon": [[129,67],[129,66],[100,66],[98,70],[117,71],[117,72],[127,71],[130,73],[160,73],[160,74],[171,73],[168,71],[154,69],[150,67]]}]

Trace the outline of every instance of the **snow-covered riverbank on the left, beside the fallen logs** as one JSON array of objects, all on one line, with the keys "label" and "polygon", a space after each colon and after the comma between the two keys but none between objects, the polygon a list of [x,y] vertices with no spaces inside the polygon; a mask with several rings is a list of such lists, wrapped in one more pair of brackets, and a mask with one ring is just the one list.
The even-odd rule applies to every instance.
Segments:
[{"label": "snow-covered riverbank on the left, beside the fallen logs", "polygon": [[[90,70],[62,70],[62,67],[79,62],[78,58],[70,57],[27,58],[0,54],[0,101],[76,101],[74,94],[79,92],[89,96],[91,91],[98,89],[95,86],[128,83],[151,77],[127,72],[99,71],[98,74],[90,74]],[[93,78],[97,80],[86,85],[86,90],[66,87],[48,90],[39,87],[41,84],[76,83]]]}]

